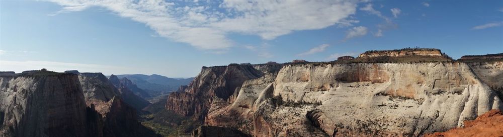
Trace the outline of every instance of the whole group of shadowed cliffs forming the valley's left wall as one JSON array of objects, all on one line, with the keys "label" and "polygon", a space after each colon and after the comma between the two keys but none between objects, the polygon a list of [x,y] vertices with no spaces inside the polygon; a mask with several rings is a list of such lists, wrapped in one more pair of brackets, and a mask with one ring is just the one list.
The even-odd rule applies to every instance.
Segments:
[{"label": "whole group of shadowed cliffs forming the valley's left wall", "polygon": [[0,136],[157,136],[101,73],[0,76]]}]

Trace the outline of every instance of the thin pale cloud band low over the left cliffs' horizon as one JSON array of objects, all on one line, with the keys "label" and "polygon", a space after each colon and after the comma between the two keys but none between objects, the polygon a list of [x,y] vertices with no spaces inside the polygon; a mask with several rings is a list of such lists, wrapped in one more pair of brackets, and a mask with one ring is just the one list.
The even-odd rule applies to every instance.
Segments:
[{"label": "thin pale cloud band low over the left cliffs' horizon", "polygon": [[10,61],[0,60],[0,71],[39,70],[46,68],[51,71],[79,70],[81,72],[126,73],[128,68],[112,65],[67,63],[55,61]]}]

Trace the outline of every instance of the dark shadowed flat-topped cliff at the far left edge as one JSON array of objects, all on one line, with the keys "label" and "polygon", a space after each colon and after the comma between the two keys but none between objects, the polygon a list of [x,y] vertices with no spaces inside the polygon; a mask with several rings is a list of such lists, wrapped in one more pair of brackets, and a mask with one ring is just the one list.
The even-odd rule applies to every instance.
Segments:
[{"label": "dark shadowed flat-topped cliff at the far left edge", "polygon": [[100,136],[90,112],[75,74],[0,76],[2,136]]}]

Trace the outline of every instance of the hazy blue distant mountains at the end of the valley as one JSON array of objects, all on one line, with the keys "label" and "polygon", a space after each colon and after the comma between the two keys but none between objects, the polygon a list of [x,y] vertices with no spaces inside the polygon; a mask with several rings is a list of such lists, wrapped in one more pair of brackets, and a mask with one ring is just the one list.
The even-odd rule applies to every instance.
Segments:
[{"label": "hazy blue distant mountains at the end of the valley", "polygon": [[[180,85],[189,84],[194,79],[194,77],[170,78],[158,74],[119,74],[117,77],[127,77],[139,88],[147,90],[147,92],[170,92],[178,89]],[[152,96],[156,95],[152,94]]]}]

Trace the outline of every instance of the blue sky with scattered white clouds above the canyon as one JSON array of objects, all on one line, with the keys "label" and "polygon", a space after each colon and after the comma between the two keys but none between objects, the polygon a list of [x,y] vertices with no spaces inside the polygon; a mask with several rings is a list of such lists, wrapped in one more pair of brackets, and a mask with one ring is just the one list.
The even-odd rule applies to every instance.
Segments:
[{"label": "blue sky with scattered white clouds above the canyon", "polygon": [[0,71],[193,77],[416,46],[503,52],[503,0],[0,0]]}]

